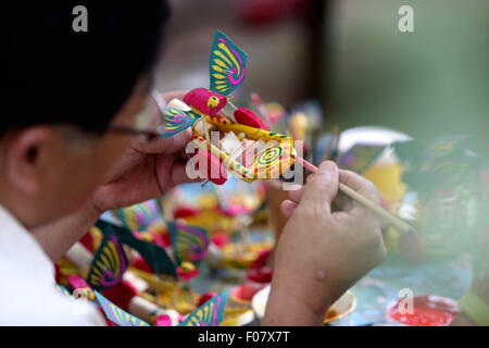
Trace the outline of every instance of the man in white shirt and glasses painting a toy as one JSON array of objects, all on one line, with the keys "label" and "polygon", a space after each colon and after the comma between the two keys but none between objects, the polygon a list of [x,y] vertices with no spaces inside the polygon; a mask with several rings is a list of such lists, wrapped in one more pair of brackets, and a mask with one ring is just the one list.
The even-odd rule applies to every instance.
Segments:
[{"label": "man in white shirt and glasses painting a toy", "polygon": [[[89,2],[86,33],[72,28],[78,4],[3,9],[0,324],[101,324],[97,312],[57,291],[52,262],[103,211],[189,182],[181,149],[190,134],[152,139],[136,126],[165,1]],[[325,310],[384,259],[377,220],[337,197],[339,182],[378,199],[371,183],[331,162],[291,194],[265,324],[322,324]],[[331,210],[334,200],[340,211]]]}]

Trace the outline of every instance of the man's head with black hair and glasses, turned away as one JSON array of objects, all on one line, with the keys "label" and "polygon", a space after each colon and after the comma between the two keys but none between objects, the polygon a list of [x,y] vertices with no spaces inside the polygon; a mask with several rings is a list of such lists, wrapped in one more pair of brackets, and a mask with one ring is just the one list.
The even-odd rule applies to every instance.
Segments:
[{"label": "man's head with black hair and glasses, turned away", "polygon": [[[76,5],[87,32],[75,32]],[[9,4],[1,65],[0,203],[28,227],[83,204],[127,147],[151,88],[163,0]]]}]

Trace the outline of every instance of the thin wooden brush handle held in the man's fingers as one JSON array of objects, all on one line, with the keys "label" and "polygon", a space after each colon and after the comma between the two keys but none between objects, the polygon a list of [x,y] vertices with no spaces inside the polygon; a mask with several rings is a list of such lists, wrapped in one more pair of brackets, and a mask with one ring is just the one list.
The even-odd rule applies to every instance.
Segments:
[{"label": "thin wooden brush handle held in the man's fingers", "polygon": [[[299,164],[301,164],[303,167],[305,167],[306,170],[311,171],[312,173],[316,173],[317,170],[318,170],[317,166],[315,166],[314,164],[308,162],[306,160],[304,160],[301,157],[296,157],[296,162],[298,162]],[[347,195],[348,197],[350,197],[354,201],[361,203],[365,208],[369,209],[372,212],[377,214],[379,217],[381,217],[385,221],[389,222],[390,224],[392,224],[393,226],[398,227],[402,232],[410,233],[410,234],[415,233],[414,227],[409,225],[406,222],[402,221],[398,216],[392,215],[391,213],[386,211],[384,208],[381,208],[377,203],[373,202],[372,200],[365,198],[364,196],[360,195],[359,192],[356,192],[352,188],[348,187],[347,185],[339,183],[339,189],[340,189],[341,192],[343,192],[344,195]]]}]

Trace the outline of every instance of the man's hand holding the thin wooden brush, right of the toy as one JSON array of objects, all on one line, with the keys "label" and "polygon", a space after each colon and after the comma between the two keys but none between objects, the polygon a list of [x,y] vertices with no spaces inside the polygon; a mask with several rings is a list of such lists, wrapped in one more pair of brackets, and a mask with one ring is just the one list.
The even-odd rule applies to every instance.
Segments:
[{"label": "man's hand holding the thin wooden brush, right of the toy", "polygon": [[302,189],[291,192],[283,203],[290,219],[276,249],[264,325],[323,324],[326,310],[384,261],[377,217],[338,195],[339,182],[379,200],[371,182],[333,162],[323,163]]}]

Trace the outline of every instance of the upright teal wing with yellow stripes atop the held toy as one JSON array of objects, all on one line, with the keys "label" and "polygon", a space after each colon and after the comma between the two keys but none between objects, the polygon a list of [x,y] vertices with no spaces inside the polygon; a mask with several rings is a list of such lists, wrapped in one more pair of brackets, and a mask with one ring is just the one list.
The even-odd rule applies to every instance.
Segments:
[{"label": "upright teal wing with yellow stripes atop the held toy", "polygon": [[243,50],[217,30],[209,62],[211,90],[227,96],[238,88],[244,80],[247,59]]}]

